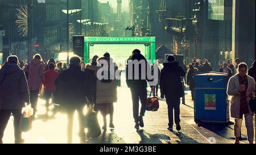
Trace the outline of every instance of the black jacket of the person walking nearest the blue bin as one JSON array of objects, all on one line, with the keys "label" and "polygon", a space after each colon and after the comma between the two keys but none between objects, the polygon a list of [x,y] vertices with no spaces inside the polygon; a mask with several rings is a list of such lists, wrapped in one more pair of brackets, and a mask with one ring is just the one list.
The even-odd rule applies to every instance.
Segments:
[{"label": "black jacket of the person walking nearest the blue bin", "polygon": [[181,78],[185,76],[184,70],[178,62],[163,64],[160,76],[160,92],[166,98],[181,98],[184,95]]}]

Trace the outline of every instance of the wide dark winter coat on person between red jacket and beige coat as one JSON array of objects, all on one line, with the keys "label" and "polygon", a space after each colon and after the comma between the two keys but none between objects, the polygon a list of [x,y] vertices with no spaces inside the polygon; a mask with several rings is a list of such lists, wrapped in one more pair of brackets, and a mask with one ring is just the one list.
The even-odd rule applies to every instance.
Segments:
[{"label": "wide dark winter coat on person between red jacket and beige coat", "polygon": [[[55,80],[57,98],[65,108],[73,108],[76,105],[85,105],[89,91],[88,80],[81,66],[71,64],[67,70],[59,74]],[[58,104],[58,103],[57,103]]]}]

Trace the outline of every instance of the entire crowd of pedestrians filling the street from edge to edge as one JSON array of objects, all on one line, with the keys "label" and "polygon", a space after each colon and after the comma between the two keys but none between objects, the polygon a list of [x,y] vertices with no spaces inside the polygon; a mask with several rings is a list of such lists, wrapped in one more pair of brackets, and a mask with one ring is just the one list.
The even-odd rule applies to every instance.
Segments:
[{"label": "entire crowd of pedestrians filling the street from edge to edge", "polygon": [[[106,63],[101,63],[106,62]],[[141,63],[145,65],[142,65]],[[139,49],[134,49],[126,64],[126,84],[131,92],[134,128],[144,127],[143,117],[146,114],[147,87],[158,96],[160,86],[160,98],[166,99],[168,107],[168,130],[181,130],[180,125],[180,98],[184,95],[184,87],[181,77],[186,77],[187,68],[176,61],[175,56],[168,56],[167,62],[160,70],[157,66],[155,72],[154,64],[150,66]],[[114,70],[112,70],[114,66]],[[138,69],[138,75],[134,68]],[[236,71],[238,70],[238,71]],[[113,72],[112,72],[113,71]],[[52,116],[55,117],[59,105],[67,114],[67,137],[68,143],[72,143],[73,118],[77,111],[79,119],[80,142],[85,143],[84,131],[84,108],[94,106],[96,112],[103,116],[102,129],[106,131],[107,126],[114,128],[114,103],[117,102],[118,67],[106,52],[103,56],[94,56],[90,64],[85,64],[79,56],[71,57],[69,65],[56,62],[50,58],[47,63],[39,54],[34,55],[28,64],[18,60],[16,56],[9,56],[0,69],[0,143],[2,142],[11,114],[14,116],[15,143],[23,143],[22,132],[19,131],[19,122],[22,116],[22,108],[31,104],[36,119],[37,103],[39,93],[44,89],[46,100],[46,116],[49,115],[50,100],[55,103]],[[146,72],[145,72],[146,71]],[[212,72],[213,68],[207,59],[203,61],[193,58],[187,72],[185,82],[191,90],[192,100],[195,99],[195,82],[193,76],[196,73]],[[228,75],[227,94],[232,96],[231,114],[235,118],[236,143],[239,143],[242,117],[245,115],[246,128],[249,143],[253,141],[253,112],[248,106],[248,99],[255,96],[255,61],[247,74],[247,65],[236,59],[233,65],[230,60],[223,62],[220,70]],[[99,74],[99,72],[101,74]],[[156,83],[151,75],[156,73]],[[238,73],[237,73],[238,72]],[[106,73],[106,76],[104,76]],[[99,78],[102,75],[103,78]],[[143,76],[146,75],[146,76]],[[141,104],[139,104],[139,101]],[[141,108],[139,108],[141,107]],[[173,114],[174,113],[174,114]],[[109,114],[110,121],[107,125],[106,116]]]}]

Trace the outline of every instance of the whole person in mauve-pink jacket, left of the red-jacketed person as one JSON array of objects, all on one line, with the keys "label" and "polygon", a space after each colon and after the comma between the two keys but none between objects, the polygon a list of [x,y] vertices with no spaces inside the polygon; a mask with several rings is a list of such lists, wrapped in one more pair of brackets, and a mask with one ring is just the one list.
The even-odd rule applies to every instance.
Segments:
[{"label": "whole person in mauve-pink jacket, left of the red-jacketed person", "polygon": [[27,82],[30,90],[30,102],[31,107],[34,108],[35,118],[39,90],[42,87],[42,82],[45,81],[42,57],[39,54],[34,55],[31,62],[24,66],[24,72],[28,73]]}]

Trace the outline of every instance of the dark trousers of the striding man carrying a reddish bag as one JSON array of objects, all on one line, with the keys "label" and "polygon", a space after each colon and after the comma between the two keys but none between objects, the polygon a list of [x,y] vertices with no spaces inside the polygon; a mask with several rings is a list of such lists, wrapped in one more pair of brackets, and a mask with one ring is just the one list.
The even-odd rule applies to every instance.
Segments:
[{"label": "dark trousers of the striding man carrying a reddish bag", "polygon": [[[147,88],[131,88],[131,99],[133,99],[133,118],[139,122],[139,115],[144,116],[146,112]],[[139,113],[139,99],[141,99],[141,112]]]}]

